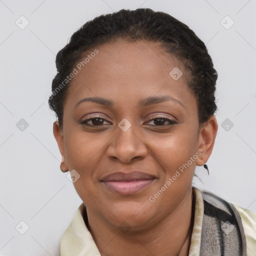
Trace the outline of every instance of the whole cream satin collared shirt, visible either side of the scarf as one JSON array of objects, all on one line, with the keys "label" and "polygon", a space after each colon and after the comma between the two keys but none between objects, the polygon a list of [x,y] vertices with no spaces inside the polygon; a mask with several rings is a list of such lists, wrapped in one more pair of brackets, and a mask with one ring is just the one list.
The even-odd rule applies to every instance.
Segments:
[{"label": "whole cream satin collared shirt, visible either side of the scarf", "polygon": [[[195,196],[195,214],[188,256],[199,256],[203,199],[201,192],[197,188],[192,187],[192,192]],[[98,248],[82,218],[82,204],[76,210],[71,223],[61,237],[60,256],[100,256]],[[241,217],[246,239],[247,256],[256,256],[256,212],[246,210],[235,204],[233,206]]]}]

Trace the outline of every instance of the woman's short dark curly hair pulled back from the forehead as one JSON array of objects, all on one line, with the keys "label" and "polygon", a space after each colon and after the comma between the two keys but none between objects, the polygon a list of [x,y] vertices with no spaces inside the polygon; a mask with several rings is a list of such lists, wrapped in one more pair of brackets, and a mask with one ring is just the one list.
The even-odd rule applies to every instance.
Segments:
[{"label": "woman's short dark curly hair pulled back from the forehead", "polygon": [[196,98],[199,124],[214,114],[217,108],[214,96],[217,71],[213,68],[205,44],[187,25],[165,12],[149,8],[121,9],[87,21],[57,53],[57,74],[52,80],[52,94],[48,103],[61,129],[64,101],[70,85],[68,81],[63,86],[63,80],[85,52],[117,39],[160,42],[167,52],[173,53],[181,61],[189,74],[187,85]]}]

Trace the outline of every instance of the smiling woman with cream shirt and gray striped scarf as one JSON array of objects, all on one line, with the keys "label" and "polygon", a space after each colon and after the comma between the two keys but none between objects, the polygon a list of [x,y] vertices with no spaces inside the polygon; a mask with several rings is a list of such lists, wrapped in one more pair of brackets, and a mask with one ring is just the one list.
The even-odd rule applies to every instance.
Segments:
[{"label": "smiling woman with cream shirt and gray striped scarf", "polygon": [[148,8],[101,15],[56,67],[60,169],[83,201],[61,256],[255,255],[256,213],[191,185],[217,132],[217,72],[188,26]]}]

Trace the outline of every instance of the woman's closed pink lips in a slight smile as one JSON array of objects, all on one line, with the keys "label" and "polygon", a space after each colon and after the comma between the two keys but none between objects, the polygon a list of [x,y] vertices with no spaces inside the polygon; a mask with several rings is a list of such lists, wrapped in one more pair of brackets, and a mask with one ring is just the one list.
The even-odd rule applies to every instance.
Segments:
[{"label": "woman's closed pink lips in a slight smile", "polygon": [[149,186],[155,176],[141,172],[114,172],[104,176],[100,181],[110,190],[122,195],[139,192]]}]

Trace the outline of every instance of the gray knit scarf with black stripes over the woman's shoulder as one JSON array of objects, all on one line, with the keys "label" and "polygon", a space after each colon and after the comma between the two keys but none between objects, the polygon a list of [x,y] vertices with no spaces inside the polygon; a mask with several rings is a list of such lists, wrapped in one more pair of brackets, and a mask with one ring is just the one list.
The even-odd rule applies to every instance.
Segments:
[{"label": "gray knit scarf with black stripes over the woman's shoulder", "polygon": [[204,204],[200,256],[246,256],[246,241],[235,207],[207,191]]}]

